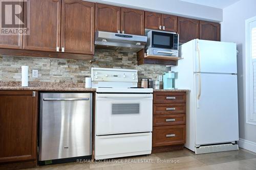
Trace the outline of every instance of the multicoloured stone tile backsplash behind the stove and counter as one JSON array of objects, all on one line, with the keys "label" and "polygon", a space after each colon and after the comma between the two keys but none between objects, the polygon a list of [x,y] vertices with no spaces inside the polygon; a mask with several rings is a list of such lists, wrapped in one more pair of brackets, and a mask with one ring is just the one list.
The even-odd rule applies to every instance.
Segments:
[{"label": "multicoloured stone tile backsplash behind the stove and counter", "polygon": [[[96,50],[95,62],[87,60],[49,59],[32,57],[14,57],[0,55],[0,81],[21,81],[21,66],[29,66],[29,81],[84,83],[85,77],[91,77],[91,67],[138,69],[141,78],[158,80],[158,76],[167,70],[162,65],[137,65],[136,53],[122,53]],[[32,78],[32,69],[38,70],[38,78]]]}]

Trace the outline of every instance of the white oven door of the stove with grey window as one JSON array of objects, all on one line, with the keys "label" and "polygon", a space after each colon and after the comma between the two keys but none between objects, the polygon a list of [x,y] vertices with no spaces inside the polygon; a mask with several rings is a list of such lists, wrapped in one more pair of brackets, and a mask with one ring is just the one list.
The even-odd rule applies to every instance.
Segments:
[{"label": "white oven door of the stove with grey window", "polygon": [[96,135],[152,132],[153,94],[96,93]]}]

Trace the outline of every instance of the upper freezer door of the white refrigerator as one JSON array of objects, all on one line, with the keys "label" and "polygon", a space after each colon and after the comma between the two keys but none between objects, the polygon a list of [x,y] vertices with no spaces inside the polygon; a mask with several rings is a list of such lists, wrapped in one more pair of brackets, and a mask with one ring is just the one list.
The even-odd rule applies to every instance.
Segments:
[{"label": "upper freezer door of the white refrigerator", "polygon": [[233,42],[195,40],[194,72],[237,73],[237,45]]}]

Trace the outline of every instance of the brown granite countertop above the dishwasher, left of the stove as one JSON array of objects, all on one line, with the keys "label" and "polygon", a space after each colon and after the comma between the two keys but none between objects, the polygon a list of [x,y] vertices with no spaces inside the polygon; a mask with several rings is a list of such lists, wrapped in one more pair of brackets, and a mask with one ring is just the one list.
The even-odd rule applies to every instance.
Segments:
[{"label": "brown granite countertop above the dishwasher, left of the stove", "polygon": [[28,87],[22,87],[21,82],[0,82],[0,90],[96,91],[95,88],[84,87],[84,83],[29,82]]}]

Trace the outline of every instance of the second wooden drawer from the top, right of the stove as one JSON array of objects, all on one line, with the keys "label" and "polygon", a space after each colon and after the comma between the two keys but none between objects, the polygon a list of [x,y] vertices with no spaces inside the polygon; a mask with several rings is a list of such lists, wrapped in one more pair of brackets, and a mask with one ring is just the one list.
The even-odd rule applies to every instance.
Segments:
[{"label": "second wooden drawer from the top, right of the stove", "polygon": [[153,105],[153,114],[185,114],[186,113],[186,104],[154,104]]}]

